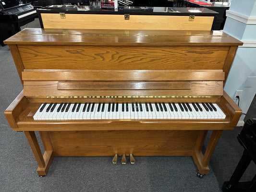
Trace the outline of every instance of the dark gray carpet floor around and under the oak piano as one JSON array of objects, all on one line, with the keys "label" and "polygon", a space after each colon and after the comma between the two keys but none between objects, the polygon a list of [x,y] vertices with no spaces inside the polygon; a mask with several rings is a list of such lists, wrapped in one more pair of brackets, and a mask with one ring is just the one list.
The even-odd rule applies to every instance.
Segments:
[{"label": "dark gray carpet floor around and under the oak piano", "polygon": [[[121,157],[116,165],[112,157],[55,157],[48,175],[39,178],[24,133],[13,132],[3,114],[22,90],[8,46],[0,47],[0,82],[0,192],[220,192],[243,153],[236,139],[242,128],[236,127],[223,132],[202,179],[186,156],[135,156],[134,165],[121,165]],[[245,118],[256,118],[255,109],[256,99]],[[251,163],[242,179],[251,180],[255,173]]]}]

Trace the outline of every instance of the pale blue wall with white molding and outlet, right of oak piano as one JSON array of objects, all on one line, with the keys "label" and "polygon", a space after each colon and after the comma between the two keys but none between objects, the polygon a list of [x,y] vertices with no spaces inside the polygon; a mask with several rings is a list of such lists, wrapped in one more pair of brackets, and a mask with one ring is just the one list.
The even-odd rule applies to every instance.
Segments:
[{"label": "pale blue wall with white molding and outlet, right of oak piano", "polygon": [[256,0],[232,0],[223,31],[244,42],[237,49],[224,90],[232,98],[236,90],[243,90],[239,106],[246,113],[256,94]]}]

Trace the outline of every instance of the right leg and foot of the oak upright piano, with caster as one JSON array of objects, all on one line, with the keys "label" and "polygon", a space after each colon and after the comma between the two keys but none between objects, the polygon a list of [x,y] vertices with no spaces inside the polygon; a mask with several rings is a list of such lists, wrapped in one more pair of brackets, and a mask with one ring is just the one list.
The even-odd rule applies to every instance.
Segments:
[{"label": "right leg and foot of the oak upright piano, with caster", "polygon": [[209,172],[208,163],[211,159],[216,145],[218,144],[222,132],[223,130],[214,130],[212,132],[211,138],[206,148],[205,155],[203,155],[201,149],[204,144],[207,131],[199,131],[199,135],[195,144],[195,150],[192,156],[200,174],[207,174]]}]

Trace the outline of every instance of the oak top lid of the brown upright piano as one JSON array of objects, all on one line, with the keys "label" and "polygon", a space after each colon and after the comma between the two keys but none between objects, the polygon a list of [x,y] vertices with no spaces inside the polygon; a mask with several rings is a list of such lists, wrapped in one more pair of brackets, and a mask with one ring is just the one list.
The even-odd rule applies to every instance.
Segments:
[{"label": "oak top lid of the brown upright piano", "polygon": [[90,46],[241,46],[222,31],[26,28],[5,44]]}]

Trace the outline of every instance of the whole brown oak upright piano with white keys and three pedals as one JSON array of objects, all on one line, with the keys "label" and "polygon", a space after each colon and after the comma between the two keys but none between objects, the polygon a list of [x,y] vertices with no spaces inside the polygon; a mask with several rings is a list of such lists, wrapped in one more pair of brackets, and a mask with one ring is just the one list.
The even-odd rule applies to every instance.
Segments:
[{"label": "whole brown oak upright piano with white keys and three pedals", "polygon": [[242,114],[223,85],[243,43],[221,31],[28,28],[5,43],[24,86],[5,116],[41,177],[54,156],[192,156],[202,177]]}]

